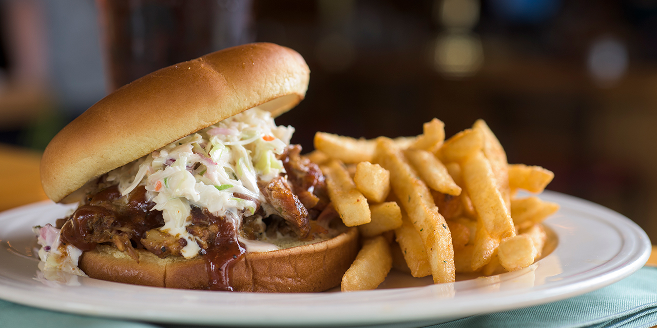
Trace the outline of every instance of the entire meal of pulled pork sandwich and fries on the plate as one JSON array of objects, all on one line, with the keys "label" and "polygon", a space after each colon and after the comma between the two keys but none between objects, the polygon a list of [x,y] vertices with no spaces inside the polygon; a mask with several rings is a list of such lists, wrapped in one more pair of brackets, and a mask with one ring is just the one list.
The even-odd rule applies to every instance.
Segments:
[{"label": "entire meal of pulled pork sandwich and fries on the plate", "polygon": [[[65,127],[43,189],[78,207],[35,227],[43,275],[225,291],[374,289],[390,270],[449,283],[526,268],[558,205],[554,174],[509,165],[483,120],[445,140],[318,132],[274,117],[304,98],[296,52],[256,43],[151,73]],[[360,248],[362,244],[362,248]]]}]

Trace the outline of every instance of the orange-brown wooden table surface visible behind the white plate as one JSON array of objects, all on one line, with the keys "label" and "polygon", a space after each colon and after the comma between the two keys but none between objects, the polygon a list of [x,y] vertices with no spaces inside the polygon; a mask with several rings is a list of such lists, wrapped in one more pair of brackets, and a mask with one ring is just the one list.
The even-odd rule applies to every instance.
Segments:
[{"label": "orange-brown wooden table surface visible behind the white plate", "polygon": [[[41,188],[41,154],[0,144],[0,211],[48,199]],[[657,246],[646,265],[657,266]]]}]

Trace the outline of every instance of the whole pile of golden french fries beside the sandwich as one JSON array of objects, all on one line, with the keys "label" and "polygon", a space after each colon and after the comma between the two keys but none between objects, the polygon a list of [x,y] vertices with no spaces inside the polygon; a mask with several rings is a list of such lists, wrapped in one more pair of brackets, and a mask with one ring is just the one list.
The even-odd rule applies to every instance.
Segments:
[{"label": "whole pile of golden french fries beside the sandwich", "polygon": [[419,136],[396,139],[315,134],[307,157],[344,224],[363,237],[342,291],[375,289],[393,267],[447,283],[457,273],[520,270],[541,256],[540,222],[558,205],[515,195],[542,192],[554,174],[509,165],[483,120],[448,140],[444,126],[433,119]]}]

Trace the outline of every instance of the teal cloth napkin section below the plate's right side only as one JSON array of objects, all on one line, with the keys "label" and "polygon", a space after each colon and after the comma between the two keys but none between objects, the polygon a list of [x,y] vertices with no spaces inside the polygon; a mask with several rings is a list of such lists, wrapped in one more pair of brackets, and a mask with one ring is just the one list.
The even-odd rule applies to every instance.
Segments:
[{"label": "teal cloth napkin section below the plate's right side only", "polygon": [[432,325],[459,327],[652,327],[657,325],[657,268],[578,297]]}]

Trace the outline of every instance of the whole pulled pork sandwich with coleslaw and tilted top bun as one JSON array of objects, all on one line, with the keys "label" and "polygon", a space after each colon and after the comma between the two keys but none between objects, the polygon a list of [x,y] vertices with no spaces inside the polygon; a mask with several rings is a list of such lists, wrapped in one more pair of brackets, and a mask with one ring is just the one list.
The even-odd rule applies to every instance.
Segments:
[{"label": "whole pulled pork sandwich with coleslaw and tilted top bun", "polygon": [[78,201],[36,227],[47,279],[62,272],[184,289],[324,291],[358,251],[324,177],[273,117],[304,98],[309,70],[269,43],[151,73],[53,138],[41,182]]}]

